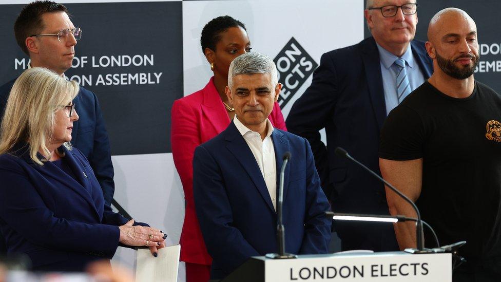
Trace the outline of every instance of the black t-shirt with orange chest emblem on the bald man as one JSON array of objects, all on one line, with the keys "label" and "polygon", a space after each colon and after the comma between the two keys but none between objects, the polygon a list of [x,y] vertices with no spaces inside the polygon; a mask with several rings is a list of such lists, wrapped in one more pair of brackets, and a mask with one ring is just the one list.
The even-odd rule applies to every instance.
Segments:
[{"label": "black t-shirt with orange chest emblem on the bald man", "polygon": [[[428,81],[393,109],[381,130],[379,157],[423,159],[416,204],[441,245],[466,240],[470,262],[501,256],[501,96],[475,81],[468,98]],[[427,247],[435,247],[425,230]]]}]

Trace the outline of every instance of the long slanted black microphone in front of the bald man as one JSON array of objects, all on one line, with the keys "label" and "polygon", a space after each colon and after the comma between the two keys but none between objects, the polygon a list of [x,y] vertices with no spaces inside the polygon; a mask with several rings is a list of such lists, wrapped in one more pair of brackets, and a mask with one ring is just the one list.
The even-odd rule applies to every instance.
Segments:
[{"label": "long slanted black microphone in front of the bald man", "polygon": [[[388,181],[384,180],[382,177],[380,177],[377,173],[373,172],[369,167],[365,166],[364,164],[362,164],[361,162],[357,161],[356,159],[354,159],[352,156],[350,156],[350,154],[348,154],[348,152],[346,152],[345,149],[341,148],[341,147],[337,147],[335,150],[334,150],[334,153],[336,154],[336,156],[340,157],[340,158],[346,158],[346,159],[349,159],[351,160],[352,162],[358,164],[359,166],[361,166],[365,171],[368,171],[369,173],[371,173],[374,177],[376,177],[377,179],[379,179],[381,182],[383,182],[384,184],[386,184],[393,192],[397,193],[398,196],[400,196],[401,198],[403,198],[404,200],[406,200],[408,203],[411,204],[412,208],[416,211],[416,214],[417,214],[417,220],[416,220],[416,245],[417,245],[417,252],[415,252],[415,250],[412,250],[411,249],[411,252],[415,252],[415,253],[423,253],[423,252],[426,252],[425,251],[425,246],[423,244],[423,240],[422,240],[422,234],[423,234],[423,227],[422,227],[422,220],[421,220],[421,214],[419,213],[419,209],[417,208],[416,204],[411,200],[409,199],[406,195],[403,195],[402,192],[400,192],[398,189],[396,189],[392,184],[390,184]],[[407,251],[407,249],[406,249]]]}]

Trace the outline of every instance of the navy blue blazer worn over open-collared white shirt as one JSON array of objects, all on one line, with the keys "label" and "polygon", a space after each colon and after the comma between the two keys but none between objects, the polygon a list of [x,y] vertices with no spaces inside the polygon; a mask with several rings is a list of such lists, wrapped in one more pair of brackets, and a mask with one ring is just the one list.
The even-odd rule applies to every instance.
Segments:
[{"label": "navy blue blazer worn over open-collared white shirt", "polygon": [[[282,156],[291,152],[284,177],[285,251],[327,253],[329,202],[320,187],[310,144],[276,129],[272,133],[277,193]],[[202,234],[220,279],[249,257],[278,252],[277,214],[259,166],[235,124],[195,149],[193,192]],[[278,195],[277,195],[278,199]]]}]

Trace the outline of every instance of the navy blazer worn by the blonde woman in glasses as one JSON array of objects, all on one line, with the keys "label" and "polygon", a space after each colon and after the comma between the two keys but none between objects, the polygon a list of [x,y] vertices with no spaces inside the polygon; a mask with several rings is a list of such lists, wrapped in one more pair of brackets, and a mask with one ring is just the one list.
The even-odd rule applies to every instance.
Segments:
[{"label": "navy blazer worn by the blonde woman in glasses", "polygon": [[117,225],[127,219],[105,204],[82,152],[60,147],[73,179],[51,162],[33,162],[27,148],[0,155],[0,230],[8,253],[26,254],[33,270],[47,271],[82,271],[90,261],[111,258]]}]

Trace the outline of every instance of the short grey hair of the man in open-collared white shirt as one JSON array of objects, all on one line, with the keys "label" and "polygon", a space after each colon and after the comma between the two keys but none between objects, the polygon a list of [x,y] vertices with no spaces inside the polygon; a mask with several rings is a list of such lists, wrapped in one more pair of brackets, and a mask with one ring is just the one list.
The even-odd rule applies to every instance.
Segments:
[{"label": "short grey hair of the man in open-collared white shirt", "polygon": [[233,78],[239,74],[269,73],[272,76],[272,85],[278,84],[277,66],[267,55],[249,52],[239,55],[229,65],[228,86],[233,88]]}]

